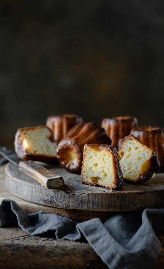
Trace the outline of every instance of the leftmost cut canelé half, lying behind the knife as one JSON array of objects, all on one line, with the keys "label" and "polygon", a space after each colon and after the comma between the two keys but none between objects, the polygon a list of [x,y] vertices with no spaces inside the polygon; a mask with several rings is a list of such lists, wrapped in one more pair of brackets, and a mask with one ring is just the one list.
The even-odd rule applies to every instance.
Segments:
[{"label": "leftmost cut canel\u00e9 half, lying behind the knife", "polygon": [[57,161],[57,144],[46,126],[26,127],[17,130],[15,151],[22,160],[33,160],[47,163]]}]

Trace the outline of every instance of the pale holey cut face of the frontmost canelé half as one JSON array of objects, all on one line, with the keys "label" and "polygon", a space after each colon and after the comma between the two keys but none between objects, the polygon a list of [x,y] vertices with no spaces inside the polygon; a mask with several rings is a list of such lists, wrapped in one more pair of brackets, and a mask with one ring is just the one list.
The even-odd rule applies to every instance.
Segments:
[{"label": "pale holey cut face of the frontmost canel\u00e9 half", "polygon": [[85,151],[83,178],[89,183],[98,182],[100,185],[112,186],[114,171],[111,153],[105,149],[87,148]]}]

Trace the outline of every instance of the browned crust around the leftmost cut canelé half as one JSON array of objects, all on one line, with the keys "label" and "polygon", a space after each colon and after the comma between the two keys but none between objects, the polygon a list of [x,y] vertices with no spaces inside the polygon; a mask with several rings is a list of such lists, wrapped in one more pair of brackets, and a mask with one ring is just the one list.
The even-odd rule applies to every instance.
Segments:
[{"label": "browned crust around the leftmost cut canel\u00e9 half", "polygon": [[18,155],[18,157],[20,159],[22,159],[23,161],[27,161],[27,160],[32,160],[32,161],[40,161],[40,162],[46,162],[46,163],[57,163],[58,160],[56,157],[53,156],[48,156],[48,155],[43,155],[43,154],[31,154],[28,150],[24,150],[23,149],[23,136],[22,136],[22,131],[24,130],[35,130],[35,129],[42,129],[42,128],[47,128],[50,132],[50,137],[49,140],[51,142],[54,142],[54,137],[53,134],[51,132],[51,130],[46,127],[46,126],[37,126],[37,127],[25,127],[25,128],[19,128],[16,132],[15,135],[15,152]]}]

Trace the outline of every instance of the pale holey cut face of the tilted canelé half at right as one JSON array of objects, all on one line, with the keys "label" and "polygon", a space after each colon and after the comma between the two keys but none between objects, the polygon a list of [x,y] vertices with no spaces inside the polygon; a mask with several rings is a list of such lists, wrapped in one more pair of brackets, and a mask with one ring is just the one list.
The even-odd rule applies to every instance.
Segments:
[{"label": "pale holey cut face of the tilted canel\u00e9 half at right", "polygon": [[149,149],[135,140],[128,139],[119,151],[123,178],[136,181],[150,157]]}]

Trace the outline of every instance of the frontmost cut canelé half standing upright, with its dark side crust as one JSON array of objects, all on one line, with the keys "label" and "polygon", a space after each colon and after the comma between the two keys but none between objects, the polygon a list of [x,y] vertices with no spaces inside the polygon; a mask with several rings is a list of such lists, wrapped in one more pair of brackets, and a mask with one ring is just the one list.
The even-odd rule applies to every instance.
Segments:
[{"label": "frontmost cut canel\u00e9 half standing upright, with its dark side crust", "polygon": [[123,175],[115,147],[106,144],[84,146],[81,171],[83,184],[115,189],[123,185]]}]

